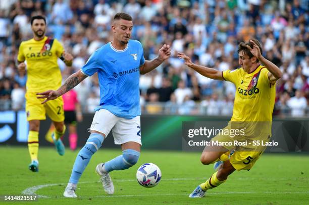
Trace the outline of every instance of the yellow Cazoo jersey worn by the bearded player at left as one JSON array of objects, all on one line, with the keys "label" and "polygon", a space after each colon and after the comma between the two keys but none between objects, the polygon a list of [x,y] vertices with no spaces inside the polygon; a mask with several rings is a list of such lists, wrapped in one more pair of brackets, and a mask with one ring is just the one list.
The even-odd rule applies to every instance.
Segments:
[{"label": "yellow Cazoo jersey worn by the bearded player at left", "polygon": [[61,43],[46,36],[36,41],[23,41],[18,52],[18,61],[27,61],[27,92],[57,90],[61,86],[61,71],[57,63],[64,51]]}]

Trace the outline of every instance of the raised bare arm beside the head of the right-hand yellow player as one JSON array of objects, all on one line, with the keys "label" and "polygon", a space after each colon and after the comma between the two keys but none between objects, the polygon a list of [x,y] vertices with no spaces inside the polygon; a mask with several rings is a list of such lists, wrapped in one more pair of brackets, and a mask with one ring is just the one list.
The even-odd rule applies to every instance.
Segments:
[{"label": "raised bare arm beside the head of the right-hand yellow player", "polygon": [[250,40],[253,44],[253,48],[247,45],[247,48],[250,50],[252,55],[254,55],[256,58],[258,58],[263,65],[267,68],[269,71],[268,78],[271,81],[272,84],[275,84],[278,79],[282,77],[282,72],[280,71],[279,67],[263,57],[261,54],[261,51],[259,49],[259,46],[256,45],[252,40]]}]

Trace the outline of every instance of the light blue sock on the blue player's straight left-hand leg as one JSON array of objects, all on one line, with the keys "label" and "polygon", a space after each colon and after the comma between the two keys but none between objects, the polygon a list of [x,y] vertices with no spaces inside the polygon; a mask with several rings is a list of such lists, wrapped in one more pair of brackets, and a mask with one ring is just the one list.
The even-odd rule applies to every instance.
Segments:
[{"label": "light blue sock on the blue player's straight left-hand leg", "polygon": [[104,136],[98,133],[91,133],[86,145],[79,151],[72,169],[69,183],[77,184],[80,176],[87,167],[92,155],[101,147]]}]

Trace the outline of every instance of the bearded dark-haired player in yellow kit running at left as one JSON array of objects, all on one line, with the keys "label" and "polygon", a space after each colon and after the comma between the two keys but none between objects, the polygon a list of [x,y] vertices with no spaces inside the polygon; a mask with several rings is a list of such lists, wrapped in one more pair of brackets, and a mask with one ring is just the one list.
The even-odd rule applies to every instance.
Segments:
[{"label": "bearded dark-haired player in yellow kit running at left", "polygon": [[[45,36],[46,20],[43,16],[31,18],[33,38],[23,41],[18,52],[18,70],[24,71],[27,64],[26,84],[26,113],[29,121],[28,149],[31,157],[29,169],[38,171],[38,134],[40,120],[45,120],[47,114],[52,119],[56,130],[53,140],[60,155],[64,155],[64,145],[61,136],[65,132],[63,100],[58,98],[41,104],[36,93],[61,86],[61,71],[57,59],[61,58],[66,65],[71,66],[73,56],[64,51],[63,46],[56,39]],[[26,63],[24,62],[26,61]]]}]

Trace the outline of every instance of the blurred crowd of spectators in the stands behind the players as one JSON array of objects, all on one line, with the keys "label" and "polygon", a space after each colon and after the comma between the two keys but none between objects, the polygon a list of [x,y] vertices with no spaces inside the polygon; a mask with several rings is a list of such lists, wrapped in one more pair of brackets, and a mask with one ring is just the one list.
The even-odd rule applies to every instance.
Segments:
[{"label": "blurred crowd of spectators in the stands behind the players", "polygon": [[[239,67],[237,46],[254,37],[263,55],[283,72],[277,82],[275,115],[309,116],[308,2],[306,0],[0,0],[0,109],[23,109],[26,73],[17,71],[18,48],[32,38],[30,17],[44,15],[46,35],[57,38],[74,56],[72,67],[59,60],[66,79],[100,46],[112,40],[117,12],[133,17],[131,39],[145,59],[163,44],[172,55],[140,77],[144,113],[231,115],[235,86],[205,78],[178,59],[184,52],[197,64],[217,70]],[[76,87],[85,112],[99,102],[97,76]]]}]

